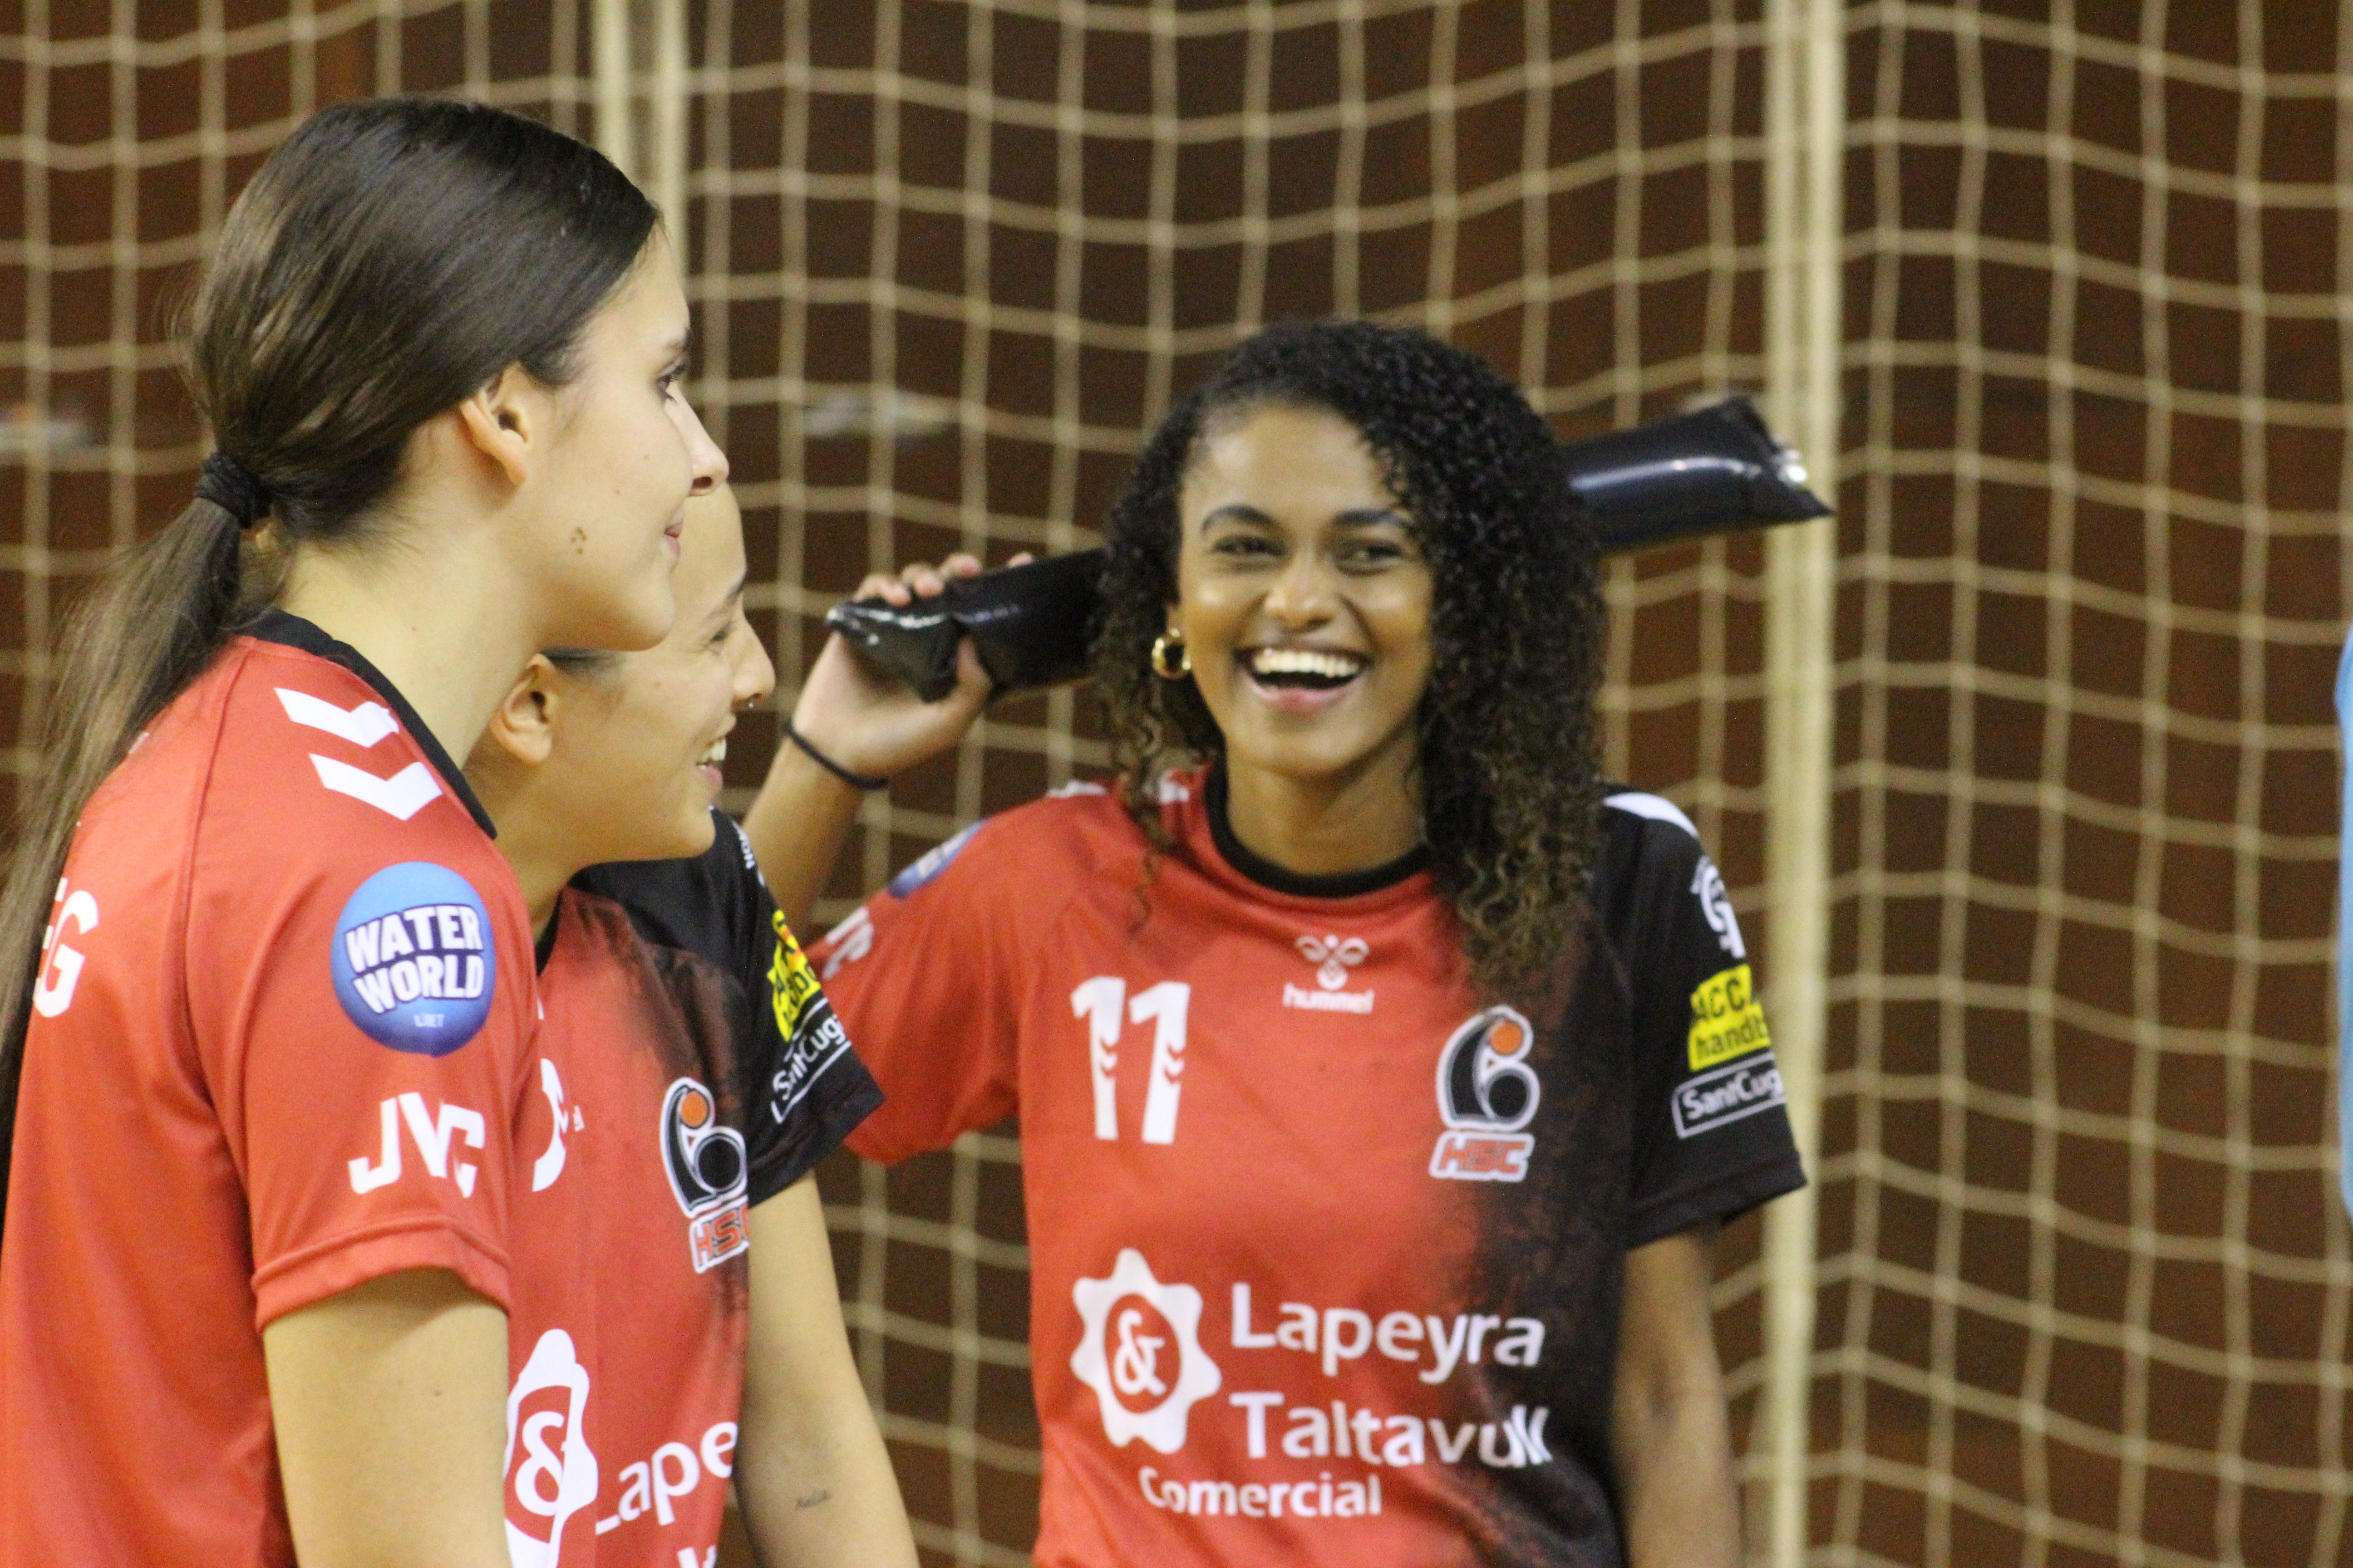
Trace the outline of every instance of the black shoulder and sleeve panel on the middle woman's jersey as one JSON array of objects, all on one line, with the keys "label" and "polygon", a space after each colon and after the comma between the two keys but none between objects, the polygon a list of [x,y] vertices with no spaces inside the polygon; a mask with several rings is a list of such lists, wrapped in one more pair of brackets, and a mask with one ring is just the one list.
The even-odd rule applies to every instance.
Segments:
[{"label": "black shoulder and sleeve panel on the middle woman's jersey", "polygon": [[711,818],[711,849],[699,856],[591,865],[572,886],[628,910],[647,945],[689,954],[727,976],[744,1041],[736,1060],[748,1197],[762,1204],[840,1147],[882,1105],[882,1088],[849,1048],[824,994],[798,1011],[791,1039],[779,1027],[769,980],[781,947],[776,900],[734,820],[725,811]]}]

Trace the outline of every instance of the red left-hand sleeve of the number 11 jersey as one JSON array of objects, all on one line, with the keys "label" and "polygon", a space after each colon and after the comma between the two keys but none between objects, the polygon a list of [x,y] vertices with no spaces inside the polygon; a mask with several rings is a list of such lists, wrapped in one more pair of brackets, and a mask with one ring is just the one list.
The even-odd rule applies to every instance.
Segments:
[{"label": "red left-hand sleeve of the number 11 jersey", "polygon": [[1024,816],[965,827],[809,950],[882,1086],[849,1135],[866,1159],[941,1150],[1014,1112],[1019,936],[1045,917],[1019,863]]}]

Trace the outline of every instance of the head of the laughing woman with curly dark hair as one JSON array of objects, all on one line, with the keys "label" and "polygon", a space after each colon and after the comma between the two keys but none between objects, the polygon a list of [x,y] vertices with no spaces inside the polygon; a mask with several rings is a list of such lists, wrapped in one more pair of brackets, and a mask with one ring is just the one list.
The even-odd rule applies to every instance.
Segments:
[{"label": "head of the laughing woman with curly dark hair", "polygon": [[[1254,536],[1238,538],[1245,524],[1214,512],[1238,494],[1264,496],[1257,510],[1287,512],[1285,527],[1247,524]],[[1348,562],[1325,545],[1268,571],[1271,557],[1297,555],[1278,541],[1322,524],[1334,543],[1355,541]],[[1096,691],[1146,830],[1158,816],[1148,780],[1172,750],[1224,755],[1245,846],[1282,842],[1271,858],[1292,870],[1351,870],[1377,863],[1362,858],[1377,849],[1428,844],[1485,985],[1525,985],[1558,959],[1595,851],[1602,611],[1593,538],[1518,388],[1419,334],[1264,331],[1153,433],[1106,543]],[[1400,581],[1419,581],[1419,597]],[[1278,731],[1266,703],[1233,701],[1231,642],[1195,656],[1193,679],[1162,679],[1148,658],[1160,637],[1191,637],[1195,616],[1233,602],[1235,583],[1254,604],[1247,635],[1271,646],[1308,623],[1325,637],[1379,630],[1386,644],[1365,701],[1315,724],[1315,738],[1266,750],[1264,769],[1259,743]],[[1217,628],[1205,635],[1228,637]],[[1374,712],[1386,712],[1379,743],[1365,731],[1384,722]],[[1329,809],[1301,813],[1325,795]],[[1308,820],[1325,827],[1304,839]]]}]

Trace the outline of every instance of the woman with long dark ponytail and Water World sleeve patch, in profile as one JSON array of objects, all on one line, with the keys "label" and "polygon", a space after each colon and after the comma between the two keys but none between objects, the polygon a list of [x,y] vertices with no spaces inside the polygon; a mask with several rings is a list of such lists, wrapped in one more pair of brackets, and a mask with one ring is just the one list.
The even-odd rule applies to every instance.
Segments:
[{"label": "woman with long dark ponytail and Water World sleeve patch, in profile", "polygon": [[233,207],[216,451],[0,891],[0,1563],[508,1563],[532,931],[452,757],[671,630],[685,339],[645,195],[501,110],[325,110]]}]

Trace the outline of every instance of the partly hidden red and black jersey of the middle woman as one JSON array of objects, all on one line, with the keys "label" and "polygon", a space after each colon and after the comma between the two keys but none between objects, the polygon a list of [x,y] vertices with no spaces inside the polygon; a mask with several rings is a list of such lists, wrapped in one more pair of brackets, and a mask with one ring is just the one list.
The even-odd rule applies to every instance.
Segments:
[{"label": "partly hidden red and black jersey of the middle woman", "polygon": [[744,835],[600,865],[541,971],[508,1314],[515,1568],[711,1561],[734,1472],[751,1206],[880,1093]]}]

